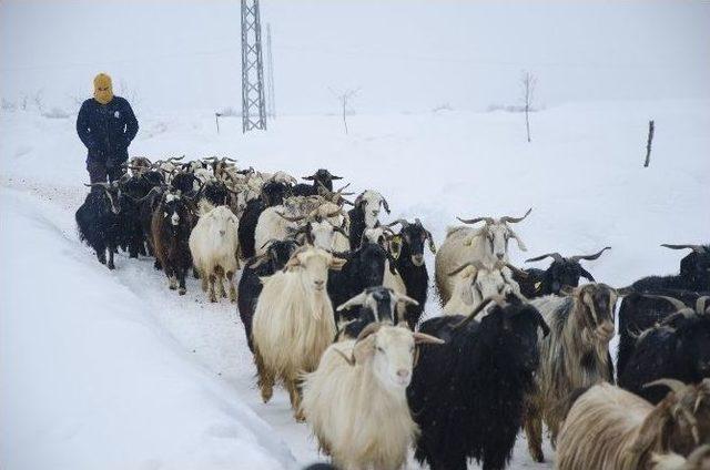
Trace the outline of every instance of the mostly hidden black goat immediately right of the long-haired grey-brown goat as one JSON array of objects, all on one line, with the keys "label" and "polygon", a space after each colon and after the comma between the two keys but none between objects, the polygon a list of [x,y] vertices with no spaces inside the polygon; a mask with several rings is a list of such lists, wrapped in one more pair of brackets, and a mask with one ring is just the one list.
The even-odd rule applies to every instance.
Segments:
[{"label": "mostly hidden black goat immediately right of the long-haired grey-brown goat", "polygon": [[625,296],[619,307],[619,376],[626,370],[627,362],[636,349],[638,336],[642,331],[663,323],[679,309],[696,307],[698,300],[707,295],[710,293],[659,289],[655,294],[632,292]]}]

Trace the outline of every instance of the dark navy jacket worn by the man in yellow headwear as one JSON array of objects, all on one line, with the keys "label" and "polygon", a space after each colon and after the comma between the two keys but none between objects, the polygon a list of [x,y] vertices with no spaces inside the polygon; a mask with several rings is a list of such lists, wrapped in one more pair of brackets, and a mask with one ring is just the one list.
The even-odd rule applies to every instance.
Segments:
[{"label": "dark navy jacket worn by the man in yellow headwear", "polygon": [[115,167],[129,160],[128,147],[138,133],[138,121],[123,98],[113,96],[108,104],[92,98],[79,110],[77,133],[89,150],[87,162]]}]

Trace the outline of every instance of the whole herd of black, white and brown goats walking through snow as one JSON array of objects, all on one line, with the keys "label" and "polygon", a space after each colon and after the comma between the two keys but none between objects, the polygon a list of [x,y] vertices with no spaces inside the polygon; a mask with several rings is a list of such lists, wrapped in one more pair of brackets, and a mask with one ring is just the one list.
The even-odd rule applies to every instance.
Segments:
[{"label": "whole herd of black, white and brown goats walking through snow", "polygon": [[[690,251],[678,275],[615,289],[581,266],[609,247],[513,266],[530,211],[459,219],[437,251],[418,218],[381,219],[381,193],[304,180],[134,157],[77,223],[110,269],[118,248],[152,255],[181,295],[192,270],[236,302],[263,400],[283,385],[336,468],[402,468],[414,448],[433,469],[503,469],[520,429],[541,462],[542,425],[559,469],[710,468],[710,246],[663,245]],[[423,320],[426,249],[442,315]]]}]

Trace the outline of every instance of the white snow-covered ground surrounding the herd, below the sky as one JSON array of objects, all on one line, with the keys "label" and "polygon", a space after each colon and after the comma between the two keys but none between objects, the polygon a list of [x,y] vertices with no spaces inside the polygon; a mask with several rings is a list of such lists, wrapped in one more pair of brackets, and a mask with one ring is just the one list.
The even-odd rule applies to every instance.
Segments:
[{"label": "white snow-covered ground surrounding the herd, below the sky", "polygon": [[[642,167],[648,120],[651,165]],[[379,190],[392,218],[415,216],[440,243],[455,216],[531,215],[529,252],[612,251],[588,262],[623,286],[678,269],[660,243],[708,242],[710,102],[595,102],[531,116],[439,112],[280,117],[241,133],[209,111],[139,115],[132,155],[213,154],[296,176],[328,167]],[[100,265],[77,237],[88,180],[74,116],[0,115],[0,468],[297,468],[317,460],[284,392],[261,403],[235,306],[189,280],[168,290],[148,258]],[[704,203],[704,204],[703,204]],[[427,258],[433,269],[433,258]],[[426,308],[437,315],[436,299]],[[511,468],[534,463],[519,438]]]}]

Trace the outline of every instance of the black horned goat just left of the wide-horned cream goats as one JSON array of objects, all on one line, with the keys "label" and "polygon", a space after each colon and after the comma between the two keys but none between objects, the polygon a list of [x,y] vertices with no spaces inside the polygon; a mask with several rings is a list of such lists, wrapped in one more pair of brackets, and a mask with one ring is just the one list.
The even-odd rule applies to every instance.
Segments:
[{"label": "black horned goat just left of the wide-horned cream goats", "polygon": [[409,224],[404,218],[399,218],[389,226],[399,224],[399,256],[396,257],[395,268],[402,276],[404,285],[407,288],[407,296],[414,298],[418,305],[407,305],[405,310],[405,319],[410,329],[414,329],[422,318],[424,306],[426,305],[427,294],[429,292],[429,273],[426,270],[424,263],[424,244],[426,243],[432,253],[436,253],[434,238],[432,233],[424,228],[422,221],[414,219],[414,224]]}]

